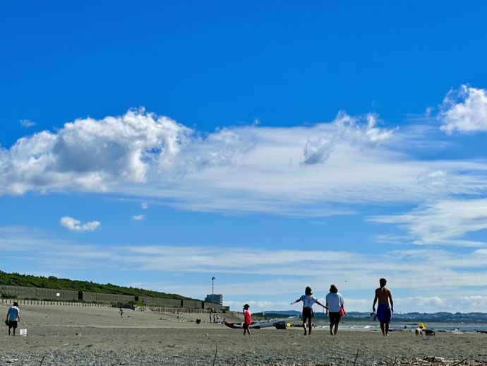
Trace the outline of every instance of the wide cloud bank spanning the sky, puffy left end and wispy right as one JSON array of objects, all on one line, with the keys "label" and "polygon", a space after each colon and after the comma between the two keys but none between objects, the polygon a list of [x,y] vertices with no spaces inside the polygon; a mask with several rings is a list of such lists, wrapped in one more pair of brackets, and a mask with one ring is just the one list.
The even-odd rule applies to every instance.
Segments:
[{"label": "wide cloud bank spanning the sky, puffy left end and wispy right", "polygon": [[342,112],[313,126],[198,134],[143,110],[78,119],[0,149],[0,194],[102,191],[195,211],[329,216],[487,190],[487,163],[416,159],[399,148],[424,148],[421,138],[377,124]]}]

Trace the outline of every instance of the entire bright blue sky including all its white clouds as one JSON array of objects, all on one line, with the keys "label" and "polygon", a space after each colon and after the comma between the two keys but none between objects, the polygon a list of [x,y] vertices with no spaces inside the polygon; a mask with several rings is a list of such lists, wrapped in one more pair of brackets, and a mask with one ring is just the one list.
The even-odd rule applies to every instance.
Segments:
[{"label": "entire bright blue sky including all its white clouds", "polygon": [[487,312],[485,13],[1,2],[1,270]]}]

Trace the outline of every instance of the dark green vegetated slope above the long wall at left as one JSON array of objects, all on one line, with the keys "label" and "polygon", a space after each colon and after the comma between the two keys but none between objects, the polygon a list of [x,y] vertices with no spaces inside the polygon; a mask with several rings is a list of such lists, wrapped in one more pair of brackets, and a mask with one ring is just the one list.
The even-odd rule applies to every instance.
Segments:
[{"label": "dark green vegetated slope above the long wall at left", "polygon": [[57,278],[54,276],[32,276],[19,273],[6,273],[3,271],[0,271],[0,285],[55,288],[59,290],[87,291],[91,293],[162,297],[164,299],[176,300],[195,300],[174,293],[160,293],[152,290],[143,290],[142,288],[112,285],[112,283],[102,285],[100,283],[69,280],[68,278]]}]

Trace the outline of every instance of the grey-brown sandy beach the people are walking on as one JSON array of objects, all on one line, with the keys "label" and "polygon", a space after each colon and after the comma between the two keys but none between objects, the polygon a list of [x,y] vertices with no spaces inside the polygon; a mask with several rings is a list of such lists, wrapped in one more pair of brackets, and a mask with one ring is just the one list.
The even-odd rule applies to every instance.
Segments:
[{"label": "grey-brown sandy beach the people are walking on", "polygon": [[[0,305],[0,313],[8,307]],[[110,307],[25,305],[19,329],[0,335],[1,365],[487,365],[487,334],[299,328],[241,330],[208,321],[208,314],[155,314]],[[220,314],[231,321],[239,318]],[[184,321],[183,321],[184,320]],[[444,360],[440,360],[443,358]]]}]

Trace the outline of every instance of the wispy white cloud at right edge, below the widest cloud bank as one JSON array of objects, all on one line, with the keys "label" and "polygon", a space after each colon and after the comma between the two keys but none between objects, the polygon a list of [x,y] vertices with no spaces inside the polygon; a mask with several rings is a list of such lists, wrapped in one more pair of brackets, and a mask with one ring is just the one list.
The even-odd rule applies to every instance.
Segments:
[{"label": "wispy white cloud at right edge, below the widest cloud bank", "polygon": [[[443,176],[439,172],[435,177]],[[409,213],[369,218],[405,228],[414,244],[484,247],[487,241],[462,239],[487,229],[487,199],[450,199],[428,203]]]}]

